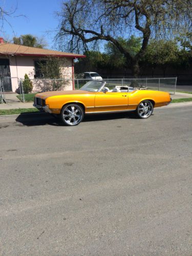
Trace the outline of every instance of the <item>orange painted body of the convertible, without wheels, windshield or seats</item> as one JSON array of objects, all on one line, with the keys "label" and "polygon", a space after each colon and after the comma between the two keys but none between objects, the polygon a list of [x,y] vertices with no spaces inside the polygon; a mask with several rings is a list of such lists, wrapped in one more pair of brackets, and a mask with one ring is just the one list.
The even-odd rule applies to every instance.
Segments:
[{"label": "orange painted body of the convertible, without wheels, windshield or seats", "polygon": [[59,114],[62,106],[75,102],[80,103],[85,113],[113,112],[136,110],[143,100],[151,100],[154,107],[167,105],[170,95],[166,92],[135,90],[133,92],[88,92],[88,91],[60,91],[36,94],[35,97],[45,100],[54,114]]}]

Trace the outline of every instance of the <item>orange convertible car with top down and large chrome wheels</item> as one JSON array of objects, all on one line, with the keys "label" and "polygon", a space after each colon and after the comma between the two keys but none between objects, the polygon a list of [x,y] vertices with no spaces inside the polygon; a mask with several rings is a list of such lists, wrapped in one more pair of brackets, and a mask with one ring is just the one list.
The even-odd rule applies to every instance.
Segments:
[{"label": "orange convertible car with top down and large chrome wheels", "polygon": [[135,111],[139,118],[148,118],[154,108],[167,105],[171,100],[166,92],[130,90],[95,80],[75,91],[38,93],[33,105],[38,110],[60,115],[66,125],[77,125],[84,114]]}]

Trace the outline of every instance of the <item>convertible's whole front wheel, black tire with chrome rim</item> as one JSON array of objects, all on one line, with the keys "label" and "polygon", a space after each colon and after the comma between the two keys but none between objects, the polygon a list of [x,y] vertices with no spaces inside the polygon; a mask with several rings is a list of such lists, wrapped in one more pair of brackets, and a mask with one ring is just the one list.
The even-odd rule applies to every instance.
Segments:
[{"label": "convertible's whole front wheel, black tire with chrome rim", "polygon": [[84,117],[84,111],[78,104],[67,104],[63,106],[60,116],[61,121],[64,124],[74,126],[82,121]]}]

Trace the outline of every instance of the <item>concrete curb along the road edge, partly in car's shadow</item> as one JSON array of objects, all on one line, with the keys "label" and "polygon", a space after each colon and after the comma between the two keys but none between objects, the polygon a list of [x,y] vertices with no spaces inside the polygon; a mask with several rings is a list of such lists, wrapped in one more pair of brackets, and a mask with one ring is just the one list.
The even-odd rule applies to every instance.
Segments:
[{"label": "concrete curb along the road edge, partly in car's shadow", "polygon": [[[170,108],[178,108],[178,107],[183,107],[183,106],[192,106],[192,101],[189,102],[179,102],[179,103],[171,103],[167,106],[160,106],[159,108],[156,109],[170,109]],[[16,114],[16,115],[0,115],[0,120],[9,120],[9,119],[16,119],[18,116],[24,117],[24,118],[48,118],[52,117],[48,113],[44,112],[37,112],[37,113],[24,113],[24,114]]]}]

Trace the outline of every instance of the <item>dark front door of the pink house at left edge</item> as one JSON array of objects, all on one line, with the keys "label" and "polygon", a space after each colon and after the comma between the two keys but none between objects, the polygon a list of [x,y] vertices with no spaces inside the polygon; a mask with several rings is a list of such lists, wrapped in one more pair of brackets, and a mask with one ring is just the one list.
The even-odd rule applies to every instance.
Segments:
[{"label": "dark front door of the pink house at left edge", "polygon": [[9,59],[0,58],[0,78],[3,82],[5,92],[12,92]]}]

